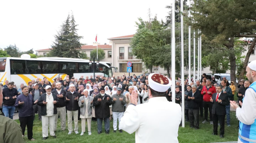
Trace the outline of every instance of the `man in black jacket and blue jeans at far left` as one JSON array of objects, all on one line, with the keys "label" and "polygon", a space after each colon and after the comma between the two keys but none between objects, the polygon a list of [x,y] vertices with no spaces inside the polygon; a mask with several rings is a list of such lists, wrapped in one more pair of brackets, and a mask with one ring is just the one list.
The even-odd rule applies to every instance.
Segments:
[{"label": "man in black jacket and blue jeans at far left", "polygon": [[13,88],[13,82],[8,83],[8,87],[3,89],[3,114],[5,117],[13,119],[15,111],[15,102],[18,97],[18,91]]}]

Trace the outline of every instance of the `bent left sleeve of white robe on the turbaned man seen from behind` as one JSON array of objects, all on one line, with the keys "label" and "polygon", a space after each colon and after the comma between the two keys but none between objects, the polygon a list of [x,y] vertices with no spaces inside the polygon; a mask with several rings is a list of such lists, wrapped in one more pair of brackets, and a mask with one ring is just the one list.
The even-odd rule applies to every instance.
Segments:
[{"label": "bent left sleeve of white robe on the turbaned man seen from behind", "polygon": [[129,105],[121,118],[121,129],[125,132],[132,134],[140,125],[139,115],[136,111],[136,106]]}]

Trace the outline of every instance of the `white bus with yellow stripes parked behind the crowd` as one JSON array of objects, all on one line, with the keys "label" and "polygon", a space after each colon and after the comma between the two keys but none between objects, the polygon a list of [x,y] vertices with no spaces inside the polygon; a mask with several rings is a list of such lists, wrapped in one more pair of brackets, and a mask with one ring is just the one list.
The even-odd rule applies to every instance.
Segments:
[{"label": "white bus with yellow stripes parked behind the crowd", "polygon": [[[108,62],[95,63],[95,75],[112,77],[112,67]],[[60,57],[40,57],[40,58],[18,58],[18,57],[0,57],[0,83],[5,84],[5,80],[13,81],[17,87],[20,84],[28,85],[28,82],[37,77],[43,79],[46,77],[51,83],[54,78],[62,77],[66,79],[84,78],[93,76],[93,63],[89,65],[87,59],[60,58]]]}]

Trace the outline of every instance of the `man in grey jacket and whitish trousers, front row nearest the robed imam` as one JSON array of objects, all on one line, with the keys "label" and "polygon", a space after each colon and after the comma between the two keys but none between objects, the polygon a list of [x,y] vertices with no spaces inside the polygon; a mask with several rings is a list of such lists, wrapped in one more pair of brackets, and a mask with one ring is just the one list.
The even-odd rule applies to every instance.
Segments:
[{"label": "man in grey jacket and whitish trousers, front row nearest the robed imam", "polygon": [[118,129],[119,133],[123,133],[121,126],[120,126],[120,121],[121,118],[123,117],[123,112],[124,112],[124,104],[125,102],[125,97],[123,94],[121,94],[121,88],[117,88],[117,93],[112,96],[112,112],[113,112],[113,128],[114,128],[114,133],[117,131],[117,118],[118,118]]}]

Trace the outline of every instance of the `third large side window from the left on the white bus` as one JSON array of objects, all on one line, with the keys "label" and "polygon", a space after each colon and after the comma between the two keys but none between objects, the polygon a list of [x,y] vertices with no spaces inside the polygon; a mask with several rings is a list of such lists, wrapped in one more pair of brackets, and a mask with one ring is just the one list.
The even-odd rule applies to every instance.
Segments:
[{"label": "third large side window from the left on the white bus", "polygon": [[58,73],[58,62],[42,61],[43,73]]}]

